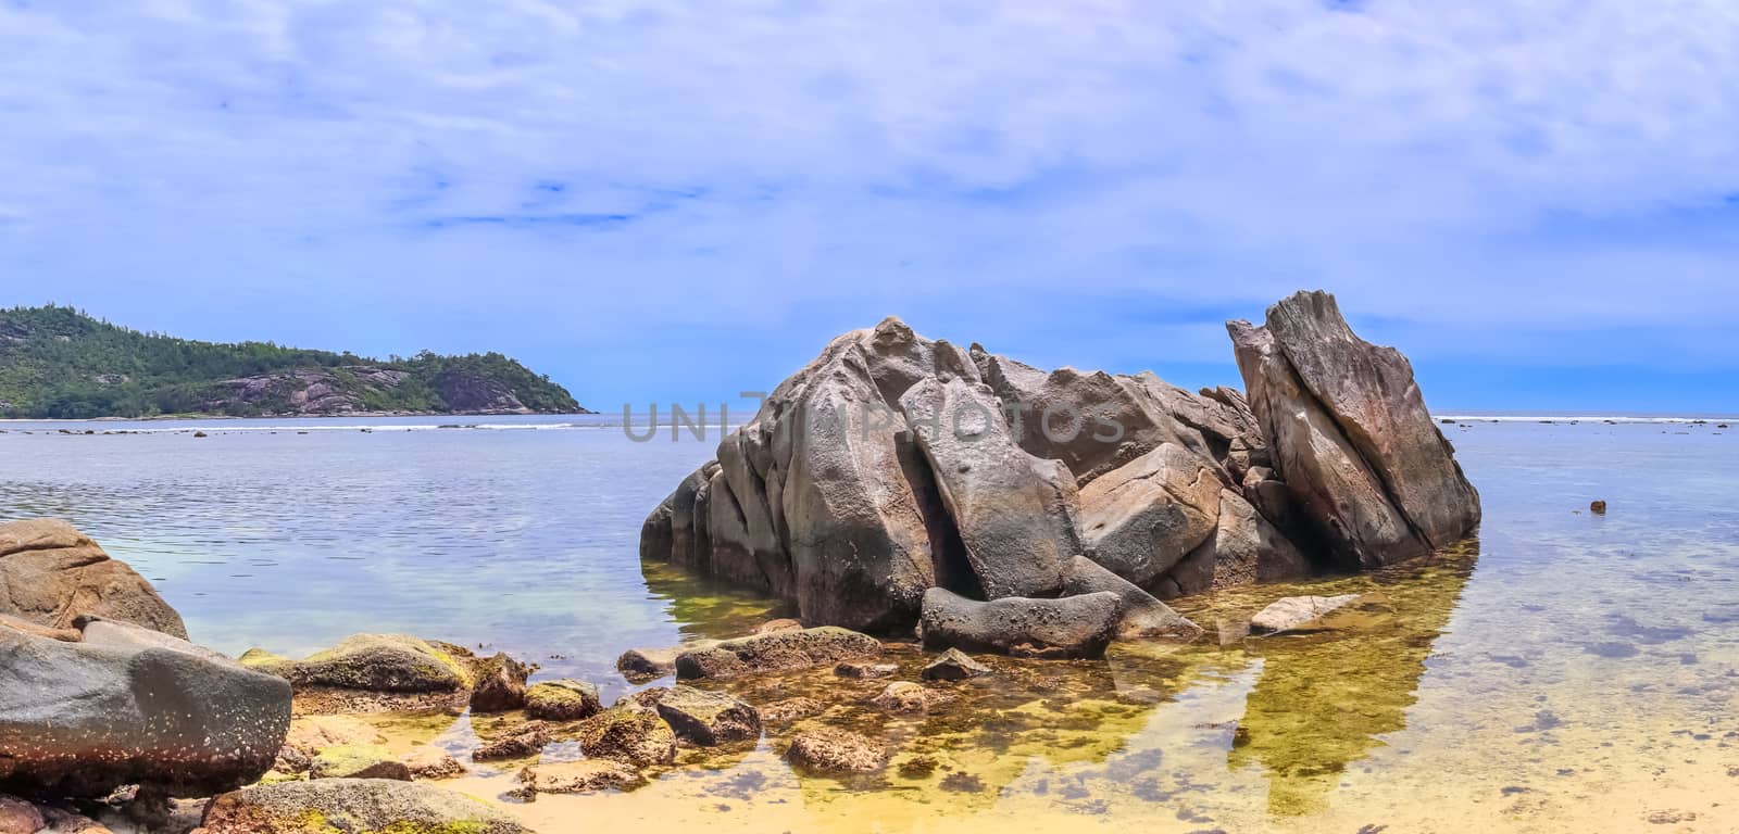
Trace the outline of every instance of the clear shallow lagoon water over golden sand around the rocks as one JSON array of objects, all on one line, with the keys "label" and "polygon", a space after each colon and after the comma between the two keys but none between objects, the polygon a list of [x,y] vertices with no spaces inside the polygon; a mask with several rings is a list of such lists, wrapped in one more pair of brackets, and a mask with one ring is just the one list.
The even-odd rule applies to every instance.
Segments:
[{"label": "clear shallow lagoon water over golden sand around the rocks", "polygon": [[[447,420],[497,427],[435,427]],[[821,719],[889,738],[894,766],[796,777],[763,742],[631,794],[516,810],[546,834],[1739,831],[1739,431],[1553,420],[1445,426],[1485,500],[1462,553],[1181,605],[1210,632],[1296,592],[1391,608],[1349,631],[1007,662],[929,718],[883,716],[856,702],[878,685],[824,671],[744,683],[751,700],[835,704]],[[711,443],[631,443],[616,422],[9,422],[0,518],[68,518],[231,653],[414,632],[508,650],[609,700],[628,688],[624,648],[777,613],[643,575],[642,518]],[[136,429],[150,433],[103,434]],[[473,730],[489,728],[395,738],[463,751]],[[492,798],[511,773],[456,787]]]}]

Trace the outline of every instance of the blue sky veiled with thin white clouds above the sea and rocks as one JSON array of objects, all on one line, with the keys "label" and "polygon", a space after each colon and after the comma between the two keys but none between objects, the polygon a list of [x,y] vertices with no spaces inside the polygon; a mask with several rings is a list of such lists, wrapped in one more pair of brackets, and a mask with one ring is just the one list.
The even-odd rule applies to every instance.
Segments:
[{"label": "blue sky veiled with thin white clouds above the sea and rocks", "polygon": [[1739,410],[1730,2],[0,5],[0,304],[583,403],[901,314],[1235,382],[1329,288],[1440,410]]}]

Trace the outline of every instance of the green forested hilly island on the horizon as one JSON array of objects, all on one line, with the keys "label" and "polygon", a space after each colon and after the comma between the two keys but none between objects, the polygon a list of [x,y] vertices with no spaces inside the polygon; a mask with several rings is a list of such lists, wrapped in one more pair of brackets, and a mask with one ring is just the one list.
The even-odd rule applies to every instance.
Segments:
[{"label": "green forested hilly island on the horizon", "polygon": [[0,417],[581,414],[499,353],[370,360],[141,334],[64,306],[0,309]]}]

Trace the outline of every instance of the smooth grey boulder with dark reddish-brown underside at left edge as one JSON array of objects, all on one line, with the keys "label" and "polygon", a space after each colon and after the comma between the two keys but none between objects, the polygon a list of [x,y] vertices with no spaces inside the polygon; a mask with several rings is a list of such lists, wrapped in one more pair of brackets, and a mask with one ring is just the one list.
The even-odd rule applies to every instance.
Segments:
[{"label": "smooth grey boulder with dark reddish-brown underside at left edge", "polygon": [[167,634],[97,631],[64,643],[0,627],[0,789],[210,796],[271,768],[289,685]]}]

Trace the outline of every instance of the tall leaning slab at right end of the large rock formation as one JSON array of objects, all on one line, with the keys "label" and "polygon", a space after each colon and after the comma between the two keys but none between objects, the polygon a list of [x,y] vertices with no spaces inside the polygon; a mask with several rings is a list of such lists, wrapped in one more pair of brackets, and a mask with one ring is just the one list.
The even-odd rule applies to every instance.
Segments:
[{"label": "tall leaning slab at right end of the large rock formation", "polygon": [[1478,526],[1480,495],[1431,420],[1407,356],[1355,335],[1327,292],[1280,301],[1268,309],[1268,330],[1426,546],[1454,544]]}]

